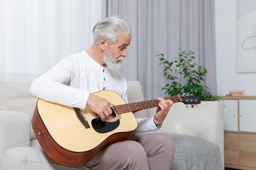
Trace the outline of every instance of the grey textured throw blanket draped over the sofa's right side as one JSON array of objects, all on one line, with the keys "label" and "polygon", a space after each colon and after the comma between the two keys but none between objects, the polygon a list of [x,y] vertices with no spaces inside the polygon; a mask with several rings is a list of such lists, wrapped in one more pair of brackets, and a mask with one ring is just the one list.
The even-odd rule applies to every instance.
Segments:
[{"label": "grey textured throw blanket draped over the sofa's right side", "polygon": [[171,170],[223,169],[221,151],[217,144],[190,135],[167,134],[175,142]]}]

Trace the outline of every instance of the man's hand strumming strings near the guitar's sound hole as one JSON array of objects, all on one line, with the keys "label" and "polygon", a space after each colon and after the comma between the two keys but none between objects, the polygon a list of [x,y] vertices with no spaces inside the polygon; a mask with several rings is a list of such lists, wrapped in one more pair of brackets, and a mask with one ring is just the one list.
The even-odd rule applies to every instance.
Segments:
[{"label": "man's hand strumming strings near the guitar's sound hole", "polygon": [[112,109],[110,108],[110,103],[107,99],[98,97],[97,95],[90,93],[87,100],[87,106],[90,107],[93,112],[100,116],[102,121],[105,121],[110,114],[112,114]]}]

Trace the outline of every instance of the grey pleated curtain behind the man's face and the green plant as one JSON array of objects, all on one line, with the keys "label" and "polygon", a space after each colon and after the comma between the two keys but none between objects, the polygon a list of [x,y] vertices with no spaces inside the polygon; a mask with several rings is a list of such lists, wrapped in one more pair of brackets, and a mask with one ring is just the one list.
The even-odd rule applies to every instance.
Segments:
[{"label": "grey pleated curtain behind the man's face and the green plant", "polygon": [[205,83],[216,94],[214,0],[108,0],[106,16],[119,15],[132,27],[132,41],[121,71],[127,80],[139,80],[146,99],[165,96],[167,81],[157,54],[168,59],[179,49],[196,52],[206,67]]}]

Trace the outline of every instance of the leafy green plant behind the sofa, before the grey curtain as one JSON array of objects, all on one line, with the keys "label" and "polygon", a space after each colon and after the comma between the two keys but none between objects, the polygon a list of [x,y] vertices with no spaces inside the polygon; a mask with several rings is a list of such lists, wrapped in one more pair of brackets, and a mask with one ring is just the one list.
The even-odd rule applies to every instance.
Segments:
[{"label": "leafy green plant behind the sofa, before the grey curtain", "polygon": [[212,95],[203,84],[207,69],[194,62],[194,54],[192,51],[186,52],[179,48],[179,55],[173,61],[165,59],[163,54],[157,55],[160,57],[160,65],[165,66],[163,76],[169,82],[162,90],[168,95],[194,93],[200,101],[221,100],[221,97]]}]

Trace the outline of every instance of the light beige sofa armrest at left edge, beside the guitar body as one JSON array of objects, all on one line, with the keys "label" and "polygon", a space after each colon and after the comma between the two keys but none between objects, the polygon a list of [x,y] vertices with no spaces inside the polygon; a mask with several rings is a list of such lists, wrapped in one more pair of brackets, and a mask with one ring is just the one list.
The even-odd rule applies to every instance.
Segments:
[{"label": "light beige sofa armrest at left edge, beside the guitar body", "polygon": [[26,113],[0,110],[0,158],[9,148],[30,146],[30,122]]}]

